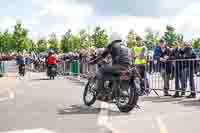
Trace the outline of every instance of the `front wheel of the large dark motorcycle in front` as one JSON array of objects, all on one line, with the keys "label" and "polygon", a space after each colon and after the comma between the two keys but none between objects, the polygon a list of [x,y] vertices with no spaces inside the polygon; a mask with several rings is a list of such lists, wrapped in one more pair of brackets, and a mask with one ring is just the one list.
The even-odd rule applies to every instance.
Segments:
[{"label": "front wheel of the large dark motorcycle in front", "polygon": [[84,92],[83,101],[85,105],[91,106],[96,101],[97,93],[95,91],[95,81],[88,80]]}]

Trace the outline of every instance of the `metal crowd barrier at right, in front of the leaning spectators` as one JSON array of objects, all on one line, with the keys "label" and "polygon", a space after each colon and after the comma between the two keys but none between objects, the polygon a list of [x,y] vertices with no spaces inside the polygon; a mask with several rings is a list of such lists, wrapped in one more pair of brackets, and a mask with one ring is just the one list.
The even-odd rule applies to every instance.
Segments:
[{"label": "metal crowd barrier at right, in front of the leaning spectators", "polygon": [[200,93],[200,59],[177,59],[146,66],[150,89]]}]

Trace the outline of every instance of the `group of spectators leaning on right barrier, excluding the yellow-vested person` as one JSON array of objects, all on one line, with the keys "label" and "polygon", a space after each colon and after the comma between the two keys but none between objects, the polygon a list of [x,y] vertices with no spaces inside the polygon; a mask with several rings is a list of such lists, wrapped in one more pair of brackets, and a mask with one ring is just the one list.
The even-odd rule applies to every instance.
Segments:
[{"label": "group of spectators leaning on right barrier, excluding the yellow-vested person", "polygon": [[[182,97],[185,95],[187,80],[189,79],[191,94],[188,98],[196,97],[196,88],[194,83],[194,74],[198,72],[199,62],[197,55],[193,51],[191,42],[179,44],[174,42],[167,47],[164,40],[160,40],[160,46],[154,52],[154,64],[157,71],[161,72],[164,80],[164,91],[166,96],[170,96],[169,80],[175,78],[175,89],[177,90],[173,97]],[[181,92],[181,94],[179,94]]]}]

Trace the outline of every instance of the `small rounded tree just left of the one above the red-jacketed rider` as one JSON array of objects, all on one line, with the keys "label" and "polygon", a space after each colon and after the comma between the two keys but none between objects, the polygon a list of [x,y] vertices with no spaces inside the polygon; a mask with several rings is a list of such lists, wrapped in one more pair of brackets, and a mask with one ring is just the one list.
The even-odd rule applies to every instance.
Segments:
[{"label": "small rounded tree just left of the one above the red-jacketed rider", "polygon": [[46,52],[47,51],[47,41],[45,38],[41,38],[36,43],[37,46],[37,52]]}]

